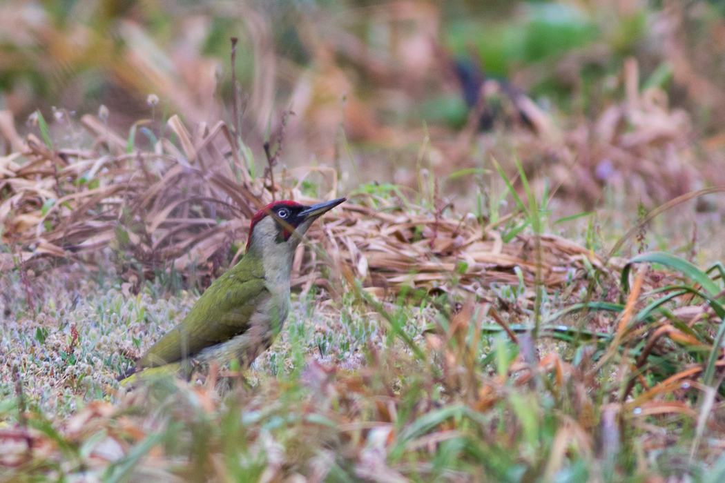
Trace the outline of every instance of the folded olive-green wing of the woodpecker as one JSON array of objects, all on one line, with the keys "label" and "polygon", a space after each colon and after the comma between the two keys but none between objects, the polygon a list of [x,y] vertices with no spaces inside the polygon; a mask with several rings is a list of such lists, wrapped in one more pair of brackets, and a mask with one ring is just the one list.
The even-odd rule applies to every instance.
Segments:
[{"label": "folded olive-green wing of the woodpecker", "polygon": [[225,272],[199,297],[191,311],[138,362],[157,367],[191,357],[249,328],[249,319],[270,297],[260,266],[239,264]]}]

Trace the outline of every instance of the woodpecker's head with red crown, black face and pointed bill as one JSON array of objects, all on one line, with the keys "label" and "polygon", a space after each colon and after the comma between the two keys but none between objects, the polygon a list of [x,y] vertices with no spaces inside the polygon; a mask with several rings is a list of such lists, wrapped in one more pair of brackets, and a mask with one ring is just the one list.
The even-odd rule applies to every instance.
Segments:
[{"label": "woodpecker's head with red crown, black face and pointed bill", "polygon": [[305,206],[295,201],[277,201],[257,211],[249,226],[247,252],[251,248],[268,248],[275,251],[284,249],[294,251],[299,244],[299,236],[305,235],[312,222],[339,205],[346,198],[325,201]]}]

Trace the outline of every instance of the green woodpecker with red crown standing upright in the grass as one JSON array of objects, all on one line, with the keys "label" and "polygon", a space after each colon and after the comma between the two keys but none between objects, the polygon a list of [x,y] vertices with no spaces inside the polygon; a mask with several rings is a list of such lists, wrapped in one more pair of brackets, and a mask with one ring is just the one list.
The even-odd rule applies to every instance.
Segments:
[{"label": "green woodpecker with red crown standing upright in the grass", "polygon": [[301,235],[322,214],[345,201],[313,206],[278,201],[261,209],[249,227],[247,253],[199,297],[191,311],[122,374],[121,385],[138,376],[182,369],[183,361],[242,366],[269,348],[289,312],[289,275]]}]

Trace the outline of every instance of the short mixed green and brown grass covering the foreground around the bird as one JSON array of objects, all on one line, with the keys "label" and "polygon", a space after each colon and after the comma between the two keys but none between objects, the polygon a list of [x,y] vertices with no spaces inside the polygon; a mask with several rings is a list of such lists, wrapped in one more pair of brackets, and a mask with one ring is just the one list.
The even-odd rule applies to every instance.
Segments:
[{"label": "short mixed green and brown grass covering the foreground around the bird", "polygon": [[[676,271],[639,271],[630,290],[629,267],[643,261]],[[595,277],[593,267],[584,280],[594,290],[566,295],[516,269],[518,285],[494,285],[494,303],[420,290],[376,299],[343,277],[332,297],[314,286],[294,296],[285,330],[244,384],[212,368],[196,382],[162,378],[131,392],[115,376],[196,294],[171,275],[136,292],[112,264],[81,276],[80,265],[38,263],[4,279],[2,481],[723,474],[719,382],[707,387],[723,371],[711,349],[720,272],[674,256],[633,259],[609,304],[600,297],[610,272]],[[447,277],[442,287],[455,283]]]}]

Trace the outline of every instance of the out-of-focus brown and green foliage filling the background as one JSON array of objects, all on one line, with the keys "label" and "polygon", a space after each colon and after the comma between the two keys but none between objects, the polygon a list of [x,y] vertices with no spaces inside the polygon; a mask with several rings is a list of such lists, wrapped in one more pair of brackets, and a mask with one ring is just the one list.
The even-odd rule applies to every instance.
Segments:
[{"label": "out-of-focus brown and green foliage filling the background", "polygon": [[[355,181],[415,188],[419,167],[442,178],[481,169],[490,154],[512,170],[503,158],[516,150],[529,172],[544,167],[556,183],[557,169],[579,163],[588,178],[566,182],[591,209],[613,175],[642,165],[659,173],[653,166],[666,153],[677,154],[667,166],[724,159],[724,32],[718,4],[705,1],[12,0],[0,4],[0,109],[21,121],[21,134],[37,134],[22,126],[36,109],[67,131],[51,107],[72,117],[104,104],[119,133],[147,119],[136,140],[151,144],[173,114],[190,125],[224,120],[261,163],[262,144],[292,109],[281,165],[326,164],[341,178],[355,171]],[[231,37],[239,38],[236,88]],[[241,120],[232,119],[235,91]],[[644,104],[631,104],[635,97]],[[641,122],[631,108],[645,104],[668,116],[647,121],[660,135],[620,146]],[[590,146],[576,131],[584,125]],[[708,145],[686,146],[691,130]],[[616,151],[596,145],[602,136]],[[80,146],[66,137],[56,133],[59,147]],[[431,150],[421,155],[425,139]],[[700,188],[689,179],[644,175],[645,184],[668,186],[647,185],[653,203],[645,202]],[[719,182],[717,171],[698,179]],[[352,181],[348,174],[344,188]]]}]

